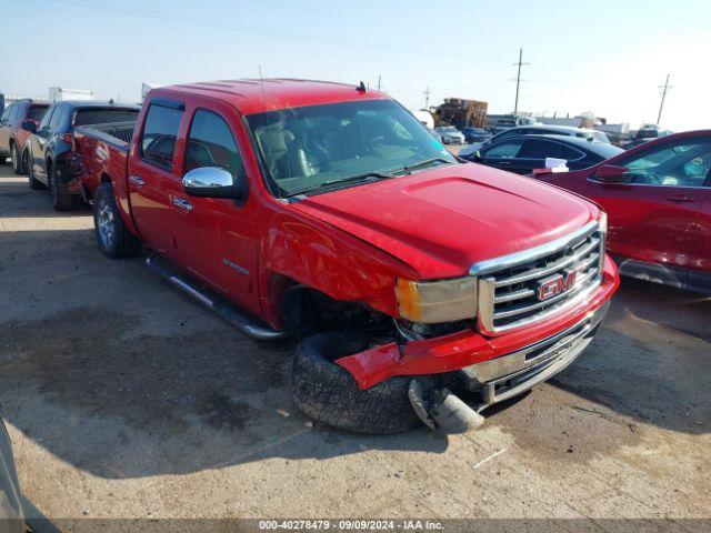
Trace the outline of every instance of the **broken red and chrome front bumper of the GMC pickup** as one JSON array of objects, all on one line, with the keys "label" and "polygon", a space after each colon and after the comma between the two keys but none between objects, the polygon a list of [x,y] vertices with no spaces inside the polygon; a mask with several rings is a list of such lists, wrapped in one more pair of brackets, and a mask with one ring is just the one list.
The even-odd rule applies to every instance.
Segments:
[{"label": "broken red and chrome front bumper of the GMC pickup", "polygon": [[602,281],[575,309],[521,331],[488,338],[473,330],[372,348],[336,362],[360,389],[394,375],[459,371],[481,390],[484,406],[520,394],[568,366],[591,342],[620,279],[605,258]]}]

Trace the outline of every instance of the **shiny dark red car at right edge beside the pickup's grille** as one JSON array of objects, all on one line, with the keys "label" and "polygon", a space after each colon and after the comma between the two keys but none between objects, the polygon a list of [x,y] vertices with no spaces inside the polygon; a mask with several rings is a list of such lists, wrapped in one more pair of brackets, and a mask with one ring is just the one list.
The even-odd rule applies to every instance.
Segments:
[{"label": "shiny dark red car at right edge beside the pickup's grille", "polygon": [[608,212],[625,275],[711,292],[711,130],[671,134],[575,172],[532,177]]}]

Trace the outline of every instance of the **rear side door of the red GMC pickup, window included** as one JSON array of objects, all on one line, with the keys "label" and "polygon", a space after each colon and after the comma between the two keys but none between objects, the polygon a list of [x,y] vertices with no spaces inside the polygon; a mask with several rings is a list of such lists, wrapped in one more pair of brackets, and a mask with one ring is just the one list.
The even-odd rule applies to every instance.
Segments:
[{"label": "rear side door of the red GMC pickup, window included", "polygon": [[136,225],[146,244],[171,257],[173,221],[168,188],[177,179],[174,154],[184,104],[153,99],[148,105],[141,137],[129,157],[129,198]]}]

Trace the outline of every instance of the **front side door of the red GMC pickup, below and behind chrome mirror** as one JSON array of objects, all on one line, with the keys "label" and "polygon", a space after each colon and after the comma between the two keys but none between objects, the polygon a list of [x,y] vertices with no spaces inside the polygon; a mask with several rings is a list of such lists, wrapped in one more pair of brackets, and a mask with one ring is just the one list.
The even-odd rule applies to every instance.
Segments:
[{"label": "front side door of the red GMC pickup, below and behind chrome mirror", "polygon": [[[182,173],[203,167],[227,170],[246,179],[234,131],[241,128],[236,112],[210,103],[192,112],[186,134]],[[230,127],[230,124],[232,127]],[[186,194],[182,180],[170,188],[173,234],[181,265],[248,311],[259,312],[257,266],[259,231],[257,202]]]}]

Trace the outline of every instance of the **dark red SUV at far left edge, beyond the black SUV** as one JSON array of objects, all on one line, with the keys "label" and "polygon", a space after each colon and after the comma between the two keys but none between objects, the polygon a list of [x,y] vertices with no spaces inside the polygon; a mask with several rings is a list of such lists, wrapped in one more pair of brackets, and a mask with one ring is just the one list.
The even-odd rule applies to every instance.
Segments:
[{"label": "dark red SUV at far left edge, beyond the black SUV", "polygon": [[22,128],[26,121],[34,122],[37,128],[49,109],[49,102],[30,99],[18,100],[8,105],[0,117],[0,164],[12,158],[16,174],[26,174],[28,169],[27,139],[30,132]]}]

